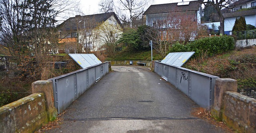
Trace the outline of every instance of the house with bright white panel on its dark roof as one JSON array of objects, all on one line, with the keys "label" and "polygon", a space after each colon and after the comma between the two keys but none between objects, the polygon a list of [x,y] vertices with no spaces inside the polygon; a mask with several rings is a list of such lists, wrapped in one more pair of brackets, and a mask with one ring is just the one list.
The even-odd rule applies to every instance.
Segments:
[{"label": "house with bright white panel on its dark roof", "polygon": [[[197,23],[201,22],[201,11],[201,3],[198,0],[151,5],[143,15],[146,17],[146,25],[158,29],[161,40],[193,40],[190,36],[196,36]],[[182,33],[184,29],[190,28],[190,35]]]}]

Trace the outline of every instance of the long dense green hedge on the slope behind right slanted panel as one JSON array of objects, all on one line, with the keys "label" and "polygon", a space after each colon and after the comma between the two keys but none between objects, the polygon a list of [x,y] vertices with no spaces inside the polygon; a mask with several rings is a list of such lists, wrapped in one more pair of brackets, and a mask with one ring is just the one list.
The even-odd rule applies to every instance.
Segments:
[{"label": "long dense green hedge on the slope behind right slanted panel", "polygon": [[190,42],[187,45],[179,43],[174,44],[170,48],[170,52],[191,52],[194,51],[195,58],[211,57],[216,54],[221,54],[230,50],[234,50],[235,41],[231,36],[202,38]]}]

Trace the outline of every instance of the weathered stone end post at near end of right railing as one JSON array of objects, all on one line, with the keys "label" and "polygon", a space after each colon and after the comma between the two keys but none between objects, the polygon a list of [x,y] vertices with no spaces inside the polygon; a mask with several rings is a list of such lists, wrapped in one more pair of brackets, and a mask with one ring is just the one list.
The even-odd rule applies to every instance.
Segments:
[{"label": "weathered stone end post at near end of right railing", "polygon": [[216,79],[214,88],[214,106],[212,108],[212,115],[218,119],[222,119],[222,99],[225,91],[237,91],[237,80],[235,79]]}]

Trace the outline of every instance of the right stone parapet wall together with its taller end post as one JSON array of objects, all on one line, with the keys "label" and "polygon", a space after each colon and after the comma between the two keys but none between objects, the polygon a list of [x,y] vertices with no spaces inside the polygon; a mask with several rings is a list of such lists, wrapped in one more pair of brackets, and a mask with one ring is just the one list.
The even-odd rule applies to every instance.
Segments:
[{"label": "right stone parapet wall together with its taller end post", "polygon": [[256,99],[236,91],[235,79],[216,79],[212,115],[238,133],[256,133]]}]

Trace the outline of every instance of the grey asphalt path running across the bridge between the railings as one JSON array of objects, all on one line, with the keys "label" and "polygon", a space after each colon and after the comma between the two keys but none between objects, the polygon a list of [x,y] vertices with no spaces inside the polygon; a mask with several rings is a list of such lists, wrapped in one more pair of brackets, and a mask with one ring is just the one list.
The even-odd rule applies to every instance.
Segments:
[{"label": "grey asphalt path running across the bridge between the railings", "polygon": [[146,67],[112,66],[61,116],[49,133],[223,133],[193,117],[198,107]]}]

